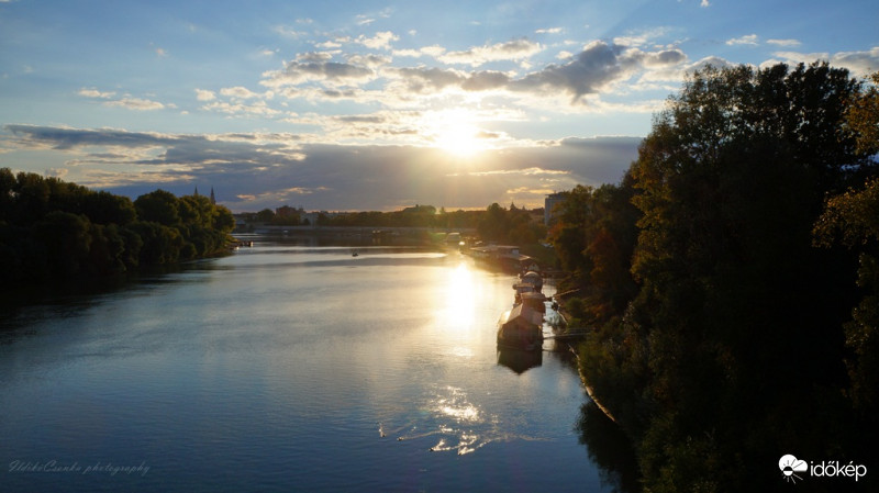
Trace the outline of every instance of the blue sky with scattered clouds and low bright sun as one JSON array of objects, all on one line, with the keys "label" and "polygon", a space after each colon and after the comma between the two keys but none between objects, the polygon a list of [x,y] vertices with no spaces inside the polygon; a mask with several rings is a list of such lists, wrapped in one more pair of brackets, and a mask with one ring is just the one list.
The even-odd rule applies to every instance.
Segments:
[{"label": "blue sky with scattered clouds and low bright sun", "polygon": [[869,1],[0,0],[0,167],[233,212],[543,206],[687,74],[879,70]]}]

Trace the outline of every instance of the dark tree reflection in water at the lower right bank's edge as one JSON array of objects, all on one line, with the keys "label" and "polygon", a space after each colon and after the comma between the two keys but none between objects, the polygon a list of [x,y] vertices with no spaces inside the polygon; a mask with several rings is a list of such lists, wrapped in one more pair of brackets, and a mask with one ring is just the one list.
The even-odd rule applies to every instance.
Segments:
[{"label": "dark tree reflection in water at the lower right bank's edge", "polygon": [[632,441],[594,402],[589,401],[580,407],[576,428],[580,442],[586,445],[589,459],[599,467],[603,484],[620,493],[641,491]]}]

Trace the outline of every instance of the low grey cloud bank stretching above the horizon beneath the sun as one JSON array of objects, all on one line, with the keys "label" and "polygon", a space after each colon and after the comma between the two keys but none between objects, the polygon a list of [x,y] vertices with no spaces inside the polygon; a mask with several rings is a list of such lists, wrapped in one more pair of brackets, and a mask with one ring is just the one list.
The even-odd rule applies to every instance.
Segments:
[{"label": "low grey cloud bank stretching above the horizon beneath the sun", "polygon": [[156,188],[191,193],[196,187],[212,187],[234,211],[283,203],[310,210],[396,210],[414,203],[539,206],[545,194],[577,183],[617,182],[641,141],[567,138],[487,152],[476,165],[429,147],[300,144],[286,134],[204,136],[32,125],[7,125],[5,131],[19,148],[65,149],[73,158],[70,169],[62,172],[88,164],[81,184],[130,197]]}]

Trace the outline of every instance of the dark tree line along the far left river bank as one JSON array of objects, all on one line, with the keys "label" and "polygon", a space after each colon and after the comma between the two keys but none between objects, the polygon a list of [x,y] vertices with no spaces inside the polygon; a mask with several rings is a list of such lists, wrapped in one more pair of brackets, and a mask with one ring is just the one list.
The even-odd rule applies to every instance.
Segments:
[{"label": "dark tree line along the far left river bank", "polygon": [[156,190],[132,201],[0,169],[0,280],[102,277],[215,255],[235,226],[207,197]]}]

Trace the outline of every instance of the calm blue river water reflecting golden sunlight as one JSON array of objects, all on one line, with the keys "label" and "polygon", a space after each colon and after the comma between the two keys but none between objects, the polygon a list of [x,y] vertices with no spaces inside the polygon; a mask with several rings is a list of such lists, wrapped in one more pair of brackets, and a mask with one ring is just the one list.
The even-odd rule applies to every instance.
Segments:
[{"label": "calm blue river water reflecting golden sunlight", "polygon": [[620,490],[569,355],[496,349],[514,277],[256,239],[4,309],[0,490]]}]

